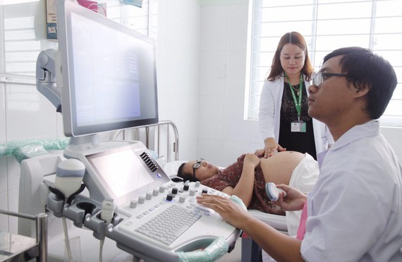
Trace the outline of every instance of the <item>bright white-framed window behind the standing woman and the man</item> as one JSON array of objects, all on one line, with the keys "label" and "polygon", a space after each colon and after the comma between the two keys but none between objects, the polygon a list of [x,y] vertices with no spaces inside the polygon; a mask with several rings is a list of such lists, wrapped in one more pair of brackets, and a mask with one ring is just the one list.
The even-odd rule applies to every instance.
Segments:
[{"label": "bright white-framed window behind the standing woman and the man", "polygon": [[347,46],[370,48],[393,66],[398,86],[382,124],[402,126],[402,1],[250,0],[245,117],[258,119],[260,93],[279,39],[300,32],[315,70],[325,54]]}]

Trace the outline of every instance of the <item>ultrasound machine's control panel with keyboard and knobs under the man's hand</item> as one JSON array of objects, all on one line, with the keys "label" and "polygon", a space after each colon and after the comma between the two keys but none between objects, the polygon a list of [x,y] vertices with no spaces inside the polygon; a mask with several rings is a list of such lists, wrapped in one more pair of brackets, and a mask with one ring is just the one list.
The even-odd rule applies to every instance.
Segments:
[{"label": "ultrasound machine's control panel with keyboard and knobs under the man's hand", "polygon": [[121,207],[132,215],[114,230],[168,250],[181,249],[200,239],[211,242],[218,237],[227,238],[236,232],[218,213],[196,201],[201,193],[227,197],[225,193],[202,186],[200,182],[173,181],[151,192]]}]

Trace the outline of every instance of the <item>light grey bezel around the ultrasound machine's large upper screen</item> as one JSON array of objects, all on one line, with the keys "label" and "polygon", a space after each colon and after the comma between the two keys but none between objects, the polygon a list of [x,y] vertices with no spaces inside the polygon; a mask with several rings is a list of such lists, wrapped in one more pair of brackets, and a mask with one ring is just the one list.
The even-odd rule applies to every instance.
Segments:
[{"label": "light grey bezel around the ultrasound machine's large upper screen", "polygon": [[[135,126],[145,126],[147,124],[156,124],[159,121],[159,110],[157,101],[157,66],[156,66],[156,42],[150,37],[142,35],[140,32],[136,32],[125,25],[116,23],[109,18],[99,15],[94,11],[90,11],[73,1],[57,1],[57,35],[59,38],[59,54],[61,58],[61,76],[58,76],[58,82],[62,83],[61,87],[61,114],[63,117],[63,131],[65,136],[78,137],[86,136],[97,133],[102,133],[106,131],[115,131],[120,129],[129,129]],[[71,63],[71,51],[68,46],[71,41],[69,36],[71,35],[71,14],[77,13],[80,16],[85,16],[85,18],[90,18],[97,23],[102,23],[110,28],[116,28],[120,32],[124,32],[127,35],[131,35],[138,40],[144,41],[147,44],[152,44],[153,55],[154,55],[154,109],[155,114],[152,117],[147,117],[145,119],[135,119],[129,121],[113,121],[107,124],[94,124],[90,126],[78,126],[77,116],[74,107],[74,97],[71,92],[71,81],[73,77],[73,68]]]}]

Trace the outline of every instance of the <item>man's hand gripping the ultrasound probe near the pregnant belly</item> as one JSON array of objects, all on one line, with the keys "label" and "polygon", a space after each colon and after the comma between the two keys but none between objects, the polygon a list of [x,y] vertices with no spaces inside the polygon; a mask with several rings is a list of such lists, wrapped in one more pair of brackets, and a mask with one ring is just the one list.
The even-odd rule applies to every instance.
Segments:
[{"label": "man's hand gripping the ultrasound probe near the pregnant belly", "polygon": [[276,201],[281,208],[286,211],[303,209],[304,203],[307,201],[307,196],[304,193],[284,184],[276,185],[276,187],[286,192],[286,196],[284,192],[281,192],[278,201]]}]

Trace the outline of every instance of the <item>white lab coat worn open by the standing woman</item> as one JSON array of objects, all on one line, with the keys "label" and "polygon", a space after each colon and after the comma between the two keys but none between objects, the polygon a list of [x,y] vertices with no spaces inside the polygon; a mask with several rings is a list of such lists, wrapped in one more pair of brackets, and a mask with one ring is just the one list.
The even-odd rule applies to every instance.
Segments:
[{"label": "white lab coat worn open by the standing woman", "polygon": [[[310,83],[305,81],[307,90]],[[260,131],[262,139],[273,137],[276,143],[279,141],[279,125],[281,123],[281,105],[284,94],[284,78],[276,78],[274,81],[265,81],[260,98]],[[309,94],[307,90],[307,94]],[[334,143],[327,125],[312,119],[314,131],[315,150],[318,153],[327,150],[328,145]]]}]

